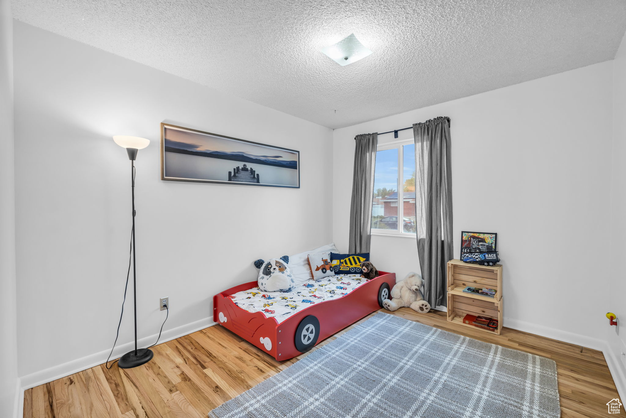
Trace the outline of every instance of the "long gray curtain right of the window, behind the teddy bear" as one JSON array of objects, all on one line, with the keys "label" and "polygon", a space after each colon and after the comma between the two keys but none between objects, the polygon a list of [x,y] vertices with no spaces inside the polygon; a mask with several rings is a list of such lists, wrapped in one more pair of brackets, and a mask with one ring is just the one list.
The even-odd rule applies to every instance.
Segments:
[{"label": "long gray curtain right of the window, behind the teddy bear", "polygon": [[419,264],[434,308],[447,305],[446,263],[453,258],[450,118],[415,123],[413,137]]}]

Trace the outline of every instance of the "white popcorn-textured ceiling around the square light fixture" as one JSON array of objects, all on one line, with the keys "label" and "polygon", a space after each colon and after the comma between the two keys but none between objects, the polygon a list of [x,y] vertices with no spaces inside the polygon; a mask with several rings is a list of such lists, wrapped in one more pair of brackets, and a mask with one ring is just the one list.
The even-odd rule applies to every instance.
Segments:
[{"label": "white popcorn-textured ceiling around the square light fixture", "polygon": [[[610,60],[624,0],[14,0],[14,17],[337,128]],[[374,51],[318,51],[354,33]],[[336,112],[335,112],[336,110]]]}]

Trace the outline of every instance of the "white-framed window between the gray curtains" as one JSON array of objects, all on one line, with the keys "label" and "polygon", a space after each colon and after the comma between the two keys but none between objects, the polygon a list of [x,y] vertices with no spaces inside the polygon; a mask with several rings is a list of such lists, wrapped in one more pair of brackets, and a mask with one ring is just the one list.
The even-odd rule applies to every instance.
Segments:
[{"label": "white-framed window between the gray curtains", "polygon": [[415,225],[415,144],[412,139],[380,144],[374,170],[372,233],[414,236]]}]

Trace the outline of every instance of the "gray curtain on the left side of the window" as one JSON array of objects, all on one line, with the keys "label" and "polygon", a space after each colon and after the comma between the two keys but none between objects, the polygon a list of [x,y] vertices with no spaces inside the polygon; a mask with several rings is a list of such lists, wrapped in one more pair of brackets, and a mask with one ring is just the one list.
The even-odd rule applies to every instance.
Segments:
[{"label": "gray curtain on the left side of the window", "polygon": [[354,137],[354,175],[350,205],[350,239],[348,251],[369,253],[374,197],[374,164],[378,133],[362,133]]}]

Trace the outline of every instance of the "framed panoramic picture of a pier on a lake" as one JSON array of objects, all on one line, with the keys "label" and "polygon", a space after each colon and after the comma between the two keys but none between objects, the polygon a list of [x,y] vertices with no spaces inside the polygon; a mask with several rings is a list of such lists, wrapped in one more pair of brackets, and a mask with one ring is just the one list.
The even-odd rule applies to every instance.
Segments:
[{"label": "framed panoramic picture of a pier on a lake", "polygon": [[300,187],[300,152],[161,123],[161,179]]}]

